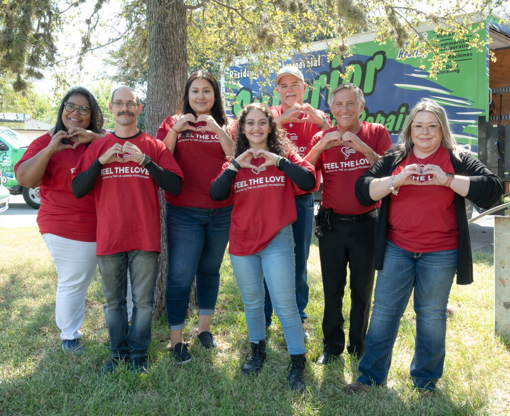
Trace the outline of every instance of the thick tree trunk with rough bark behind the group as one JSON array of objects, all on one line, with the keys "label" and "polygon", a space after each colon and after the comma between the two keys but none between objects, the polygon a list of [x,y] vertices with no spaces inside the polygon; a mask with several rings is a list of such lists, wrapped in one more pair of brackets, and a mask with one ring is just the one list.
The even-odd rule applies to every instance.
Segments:
[{"label": "thick tree trunk with rough bark behind the group", "polygon": [[[145,127],[155,136],[163,119],[174,114],[188,78],[186,7],[183,0],[147,0],[149,68]],[[165,312],[167,247],[165,200],[161,202],[161,255],[154,299],[154,316]]]}]

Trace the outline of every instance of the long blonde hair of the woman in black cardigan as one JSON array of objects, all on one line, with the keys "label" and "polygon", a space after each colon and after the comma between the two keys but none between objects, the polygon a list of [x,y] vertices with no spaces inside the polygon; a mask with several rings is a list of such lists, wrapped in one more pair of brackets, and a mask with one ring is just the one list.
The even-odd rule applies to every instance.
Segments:
[{"label": "long blonde hair of the woman in black cardigan", "polygon": [[438,118],[439,124],[441,124],[441,133],[443,135],[443,138],[441,139],[441,146],[450,150],[458,159],[461,148],[455,142],[455,138],[451,132],[450,123],[448,122],[448,116],[445,109],[441,107],[436,101],[427,100],[425,98],[420,100],[409,112],[407,121],[405,122],[404,128],[398,136],[398,142],[395,146],[397,159],[403,160],[413,150],[414,143],[411,136],[411,124],[420,111],[429,111]]}]

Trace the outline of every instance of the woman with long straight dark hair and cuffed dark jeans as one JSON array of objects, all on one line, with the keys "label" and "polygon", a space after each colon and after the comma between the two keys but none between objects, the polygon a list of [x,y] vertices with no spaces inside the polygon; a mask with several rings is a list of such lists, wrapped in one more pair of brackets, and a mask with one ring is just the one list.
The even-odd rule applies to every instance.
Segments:
[{"label": "woman with long straight dark hair and cuffed dark jeans", "polygon": [[229,131],[218,83],[207,71],[193,73],[184,90],[180,112],[167,117],[156,138],[164,140],[184,175],[182,191],[165,192],[168,243],[166,313],[175,361],[191,361],[183,328],[191,285],[196,276],[198,341],[216,347],[211,317],[216,306],[220,266],[228,243],[232,200],[213,201],[209,196],[234,141]]}]

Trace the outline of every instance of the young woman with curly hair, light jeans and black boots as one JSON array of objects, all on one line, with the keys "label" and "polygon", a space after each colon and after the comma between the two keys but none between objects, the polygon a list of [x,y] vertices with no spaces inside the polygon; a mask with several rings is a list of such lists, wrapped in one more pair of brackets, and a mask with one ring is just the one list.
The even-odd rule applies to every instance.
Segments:
[{"label": "young woman with curly hair, light jeans and black boots", "polygon": [[292,223],[294,195],[315,187],[315,170],[302,160],[264,105],[246,106],[236,127],[233,159],[211,185],[214,200],[233,197],[228,251],[244,303],[251,356],[245,374],[266,360],[264,278],[291,356],[289,386],[304,389],[305,347],[296,303]]}]

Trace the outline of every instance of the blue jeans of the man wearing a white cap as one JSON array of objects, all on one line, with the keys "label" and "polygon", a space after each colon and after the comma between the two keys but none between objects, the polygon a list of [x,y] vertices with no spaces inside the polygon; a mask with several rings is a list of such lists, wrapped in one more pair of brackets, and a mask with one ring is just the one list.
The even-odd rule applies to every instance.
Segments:
[{"label": "blue jeans of the man wearing a white cap", "polygon": [[[296,245],[294,247],[294,254],[296,255],[296,302],[301,322],[303,322],[308,318],[304,308],[308,305],[307,262],[314,227],[314,196],[313,194],[296,196],[295,199],[297,219],[292,223],[292,232],[294,234],[294,244]],[[264,290],[266,291],[264,314],[267,326],[271,325],[272,322],[273,305],[265,280]]]}]

